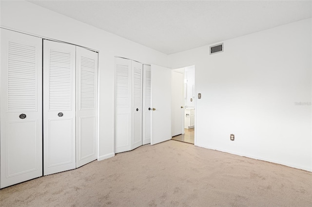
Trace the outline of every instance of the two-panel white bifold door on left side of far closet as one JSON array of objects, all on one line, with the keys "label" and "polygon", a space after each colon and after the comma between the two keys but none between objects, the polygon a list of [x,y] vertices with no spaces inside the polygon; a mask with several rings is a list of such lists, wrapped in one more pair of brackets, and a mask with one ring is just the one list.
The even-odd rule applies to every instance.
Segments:
[{"label": "two-panel white bifold door on left side of far closet", "polygon": [[142,145],[143,64],[115,58],[115,153]]}]

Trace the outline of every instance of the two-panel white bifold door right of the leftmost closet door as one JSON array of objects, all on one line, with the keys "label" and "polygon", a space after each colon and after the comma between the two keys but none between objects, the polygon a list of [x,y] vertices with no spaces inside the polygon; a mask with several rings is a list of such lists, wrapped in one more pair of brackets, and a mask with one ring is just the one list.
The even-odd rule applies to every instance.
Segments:
[{"label": "two-panel white bifold door right of the leftmost closet door", "polygon": [[98,53],[43,42],[43,174],[97,159]]}]

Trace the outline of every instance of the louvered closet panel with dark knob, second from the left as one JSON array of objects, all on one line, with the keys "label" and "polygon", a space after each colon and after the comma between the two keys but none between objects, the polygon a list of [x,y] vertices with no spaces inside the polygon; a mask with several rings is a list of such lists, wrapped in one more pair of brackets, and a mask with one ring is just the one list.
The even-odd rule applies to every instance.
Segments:
[{"label": "louvered closet panel with dark knob, second from the left", "polygon": [[76,46],[43,42],[43,174],[76,168]]}]

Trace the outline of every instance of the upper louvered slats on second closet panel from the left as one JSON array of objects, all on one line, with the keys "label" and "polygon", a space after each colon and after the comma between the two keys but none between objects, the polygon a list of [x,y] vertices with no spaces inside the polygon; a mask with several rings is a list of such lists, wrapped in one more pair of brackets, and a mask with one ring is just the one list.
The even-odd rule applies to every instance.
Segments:
[{"label": "upper louvered slats on second closet panel from the left", "polygon": [[49,51],[49,110],[71,110],[71,54]]}]

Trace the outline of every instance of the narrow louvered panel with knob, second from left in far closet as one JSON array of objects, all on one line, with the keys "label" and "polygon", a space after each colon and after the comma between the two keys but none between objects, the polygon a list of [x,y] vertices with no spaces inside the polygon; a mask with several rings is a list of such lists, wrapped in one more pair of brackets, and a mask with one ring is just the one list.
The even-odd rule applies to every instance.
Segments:
[{"label": "narrow louvered panel with knob, second from left in far closet", "polygon": [[142,63],[131,61],[132,65],[132,136],[131,150],[142,145]]}]

